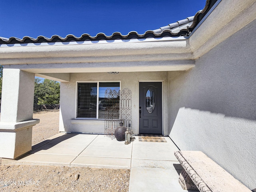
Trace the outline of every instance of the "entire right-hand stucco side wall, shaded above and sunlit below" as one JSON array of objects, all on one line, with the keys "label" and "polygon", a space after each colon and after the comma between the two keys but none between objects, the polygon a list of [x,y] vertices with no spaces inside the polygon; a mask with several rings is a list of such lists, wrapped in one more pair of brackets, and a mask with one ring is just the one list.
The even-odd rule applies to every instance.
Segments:
[{"label": "entire right-hand stucco side wall, shaded above and sunlit below", "polygon": [[169,133],[256,188],[256,20],[196,60],[168,72]]}]

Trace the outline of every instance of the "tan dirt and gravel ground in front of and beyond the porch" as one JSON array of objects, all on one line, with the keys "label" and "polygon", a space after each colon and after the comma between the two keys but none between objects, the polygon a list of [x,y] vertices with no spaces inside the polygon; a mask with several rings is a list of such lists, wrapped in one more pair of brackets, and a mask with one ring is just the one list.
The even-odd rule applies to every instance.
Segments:
[{"label": "tan dirt and gravel ground in front of and beyond the porch", "polygon": [[[32,145],[58,133],[59,110],[34,112]],[[127,192],[130,170],[65,166],[1,165],[2,192]]]}]

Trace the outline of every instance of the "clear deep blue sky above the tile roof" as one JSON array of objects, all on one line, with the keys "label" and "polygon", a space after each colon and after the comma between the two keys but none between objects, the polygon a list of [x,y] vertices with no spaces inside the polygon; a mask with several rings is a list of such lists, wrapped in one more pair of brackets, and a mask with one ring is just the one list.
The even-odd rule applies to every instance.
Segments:
[{"label": "clear deep blue sky above the tile roof", "polygon": [[206,0],[0,0],[0,36],[143,34],[193,16]]}]

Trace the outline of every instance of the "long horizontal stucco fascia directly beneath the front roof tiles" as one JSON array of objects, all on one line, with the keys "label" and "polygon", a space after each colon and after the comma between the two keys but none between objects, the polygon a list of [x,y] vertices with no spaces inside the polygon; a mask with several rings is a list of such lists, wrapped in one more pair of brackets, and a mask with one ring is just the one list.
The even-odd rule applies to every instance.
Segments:
[{"label": "long horizontal stucco fascia directly beneath the front roof tiles", "polygon": [[58,42],[60,44],[56,46],[46,44],[45,46],[0,47],[0,62],[2,65],[12,65],[192,59],[187,39],[183,37],[162,39],[136,40],[136,42],[121,40],[118,43],[104,41],[96,44]]}]

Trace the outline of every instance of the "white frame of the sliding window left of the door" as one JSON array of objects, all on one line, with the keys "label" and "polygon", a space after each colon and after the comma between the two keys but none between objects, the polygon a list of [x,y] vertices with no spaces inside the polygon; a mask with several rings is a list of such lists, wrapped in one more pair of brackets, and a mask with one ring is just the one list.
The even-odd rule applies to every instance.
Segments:
[{"label": "white frame of the sliding window left of the door", "polygon": [[[76,81],[76,106],[75,106],[75,119],[82,119],[82,120],[104,120],[99,119],[99,85],[100,82],[119,82],[119,88],[121,90],[121,81]],[[96,118],[86,118],[86,117],[77,117],[77,106],[78,106],[78,83],[97,83],[97,107],[96,107]]]}]

